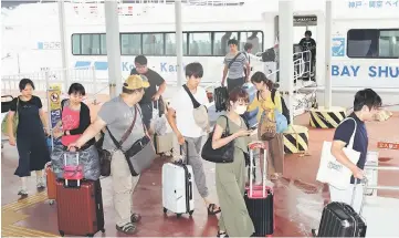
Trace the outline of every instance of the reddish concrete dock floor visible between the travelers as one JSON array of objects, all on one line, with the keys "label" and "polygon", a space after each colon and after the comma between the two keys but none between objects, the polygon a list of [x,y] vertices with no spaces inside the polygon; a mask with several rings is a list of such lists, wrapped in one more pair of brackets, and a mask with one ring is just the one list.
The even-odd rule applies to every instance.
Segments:
[{"label": "reddish concrete dock floor visible between the travelers", "polygon": [[[95,114],[96,108],[93,108]],[[308,125],[308,116],[295,120],[297,125]],[[399,141],[399,113],[387,122],[367,123],[369,133],[369,149],[375,151],[378,141]],[[274,185],[276,229],[275,237],[309,236],[311,228],[317,228],[321,211],[328,201],[328,189],[315,182],[323,141],[333,137],[334,130],[309,130],[309,154],[285,156],[284,178]],[[377,149],[378,151],[378,149]],[[380,157],[392,158],[382,166],[399,166],[399,151],[379,149]],[[46,201],[45,192],[35,190],[35,178],[29,180],[30,196],[19,200],[17,195],[20,180],[13,175],[18,165],[18,153],[14,147],[4,144],[1,151],[1,205],[2,220],[14,215],[14,221],[2,223],[3,236],[51,236],[57,235],[56,206]],[[177,219],[174,215],[165,216],[161,205],[161,166],[166,158],[157,158],[149,170],[141,175],[136,192],[133,195],[134,208],[143,216],[138,226],[137,237],[214,237],[218,230],[218,217],[208,216],[203,201],[195,188],[196,210],[192,218],[183,215]],[[217,201],[214,187],[214,165],[204,163],[207,182],[211,197]],[[399,173],[379,172],[379,185],[398,186]],[[102,179],[105,210],[105,235],[124,236],[118,234],[114,224],[111,178]],[[379,196],[399,198],[397,192],[379,192]],[[17,203],[15,203],[17,201]],[[12,215],[13,214],[13,215]],[[12,215],[12,216],[11,216]],[[11,218],[10,218],[11,219]]]}]

